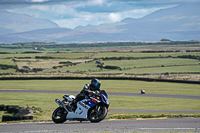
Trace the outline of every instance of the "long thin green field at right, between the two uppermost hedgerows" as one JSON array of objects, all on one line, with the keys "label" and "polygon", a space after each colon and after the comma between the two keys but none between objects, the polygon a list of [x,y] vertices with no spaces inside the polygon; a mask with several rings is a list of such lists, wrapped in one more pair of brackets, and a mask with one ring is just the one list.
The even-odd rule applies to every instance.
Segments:
[{"label": "long thin green field at right, between the two uppermost hedgerows", "polygon": [[137,52],[99,52],[93,58],[106,57],[168,57],[168,56],[183,56],[194,55],[200,56],[200,52],[158,52],[158,53],[137,53]]}]

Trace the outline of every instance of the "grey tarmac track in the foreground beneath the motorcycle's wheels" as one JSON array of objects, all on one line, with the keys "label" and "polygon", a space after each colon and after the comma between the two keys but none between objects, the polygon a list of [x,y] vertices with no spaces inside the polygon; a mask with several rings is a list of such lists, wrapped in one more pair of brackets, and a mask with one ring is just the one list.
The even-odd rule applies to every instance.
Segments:
[{"label": "grey tarmac track in the foreground beneath the motorcycle's wheels", "polygon": [[67,121],[0,124],[0,132],[200,132],[200,118],[103,120],[100,123]]}]

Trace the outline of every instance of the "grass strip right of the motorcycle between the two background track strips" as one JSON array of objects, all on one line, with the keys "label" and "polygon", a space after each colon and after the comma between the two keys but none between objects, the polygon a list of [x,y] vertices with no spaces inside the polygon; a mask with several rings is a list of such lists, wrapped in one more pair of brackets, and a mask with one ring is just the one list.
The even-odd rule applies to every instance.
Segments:
[{"label": "grass strip right of the motorcycle between the two background track strips", "polygon": [[137,96],[109,96],[111,109],[136,110],[200,110],[196,99],[176,99]]}]

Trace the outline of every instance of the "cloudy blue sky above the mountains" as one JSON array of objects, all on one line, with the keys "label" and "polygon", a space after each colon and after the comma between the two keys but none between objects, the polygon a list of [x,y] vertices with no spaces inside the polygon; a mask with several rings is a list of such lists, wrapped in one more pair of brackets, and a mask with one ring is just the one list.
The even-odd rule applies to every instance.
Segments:
[{"label": "cloudy blue sky above the mountains", "polygon": [[0,11],[49,19],[59,27],[120,22],[200,0],[0,0]]}]

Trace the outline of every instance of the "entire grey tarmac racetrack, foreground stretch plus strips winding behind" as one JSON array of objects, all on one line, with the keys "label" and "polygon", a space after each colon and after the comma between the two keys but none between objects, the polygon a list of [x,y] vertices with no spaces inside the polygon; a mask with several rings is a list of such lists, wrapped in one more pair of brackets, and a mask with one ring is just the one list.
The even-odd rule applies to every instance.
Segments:
[{"label": "entire grey tarmac racetrack, foreground stretch plus strips winding behind", "polygon": [[[53,91],[53,90],[2,90],[0,92],[15,93],[62,93],[77,94],[78,91]],[[141,97],[164,97],[181,99],[200,99],[200,96],[194,95],[169,95],[169,94],[140,94],[140,93],[122,93],[108,92],[109,95],[122,96],[141,96]],[[116,112],[183,112],[199,113],[200,110],[120,110],[110,109]],[[30,123],[0,123],[0,132],[200,132],[200,118],[154,118],[154,119],[130,119],[130,120],[103,120],[100,123],[90,123],[88,121],[66,121],[63,124],[53,122],[30,122]]]}]

